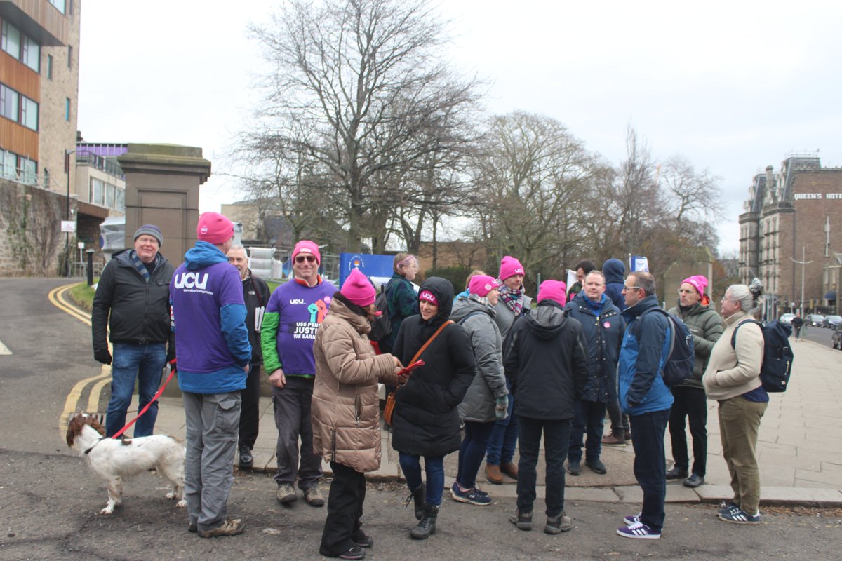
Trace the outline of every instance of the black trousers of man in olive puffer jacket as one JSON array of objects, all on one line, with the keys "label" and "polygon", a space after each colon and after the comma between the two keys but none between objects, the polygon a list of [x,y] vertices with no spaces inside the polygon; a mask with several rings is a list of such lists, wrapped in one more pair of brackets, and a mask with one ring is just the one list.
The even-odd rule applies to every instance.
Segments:
[{"label": "black trousers of man in olive puffer jacket", "polygon": [[685,471],[690,466],[687,457],[687,436],[685,417],[690,420],[690,436],[693,437],[693,471],[705,476],[707,467],[707,396],[702,388],[677,386],[672,389],[674,402],[669,410],[669,440],[673,447],[676,468]]}]

